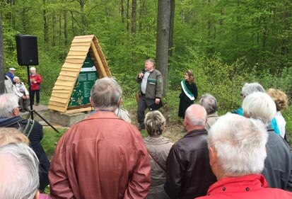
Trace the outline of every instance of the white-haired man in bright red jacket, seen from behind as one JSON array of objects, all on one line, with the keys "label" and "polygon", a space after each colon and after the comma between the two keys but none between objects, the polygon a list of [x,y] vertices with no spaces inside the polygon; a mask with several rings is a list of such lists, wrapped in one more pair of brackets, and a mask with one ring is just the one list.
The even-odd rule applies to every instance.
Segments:
[{"label": "white-haired man in bright red jacket, seen from behind", "polygon": [[292,193],[269,188],[264,176],[267,130],[259,120],[227,113],[209,130],[209,157],[217,182],[200,199],[288,199]]}]

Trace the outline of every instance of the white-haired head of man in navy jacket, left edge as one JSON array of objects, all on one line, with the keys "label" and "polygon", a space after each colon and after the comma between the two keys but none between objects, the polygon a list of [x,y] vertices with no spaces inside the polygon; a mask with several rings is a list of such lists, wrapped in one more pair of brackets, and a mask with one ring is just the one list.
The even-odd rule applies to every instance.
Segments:
[{"label": "white-haired head of man in navy jacket, left edge", "polygon": [[5,93],[0,96],[0,118],[13,116],[13,109],[18,107],[18,96],[13,93]]}]

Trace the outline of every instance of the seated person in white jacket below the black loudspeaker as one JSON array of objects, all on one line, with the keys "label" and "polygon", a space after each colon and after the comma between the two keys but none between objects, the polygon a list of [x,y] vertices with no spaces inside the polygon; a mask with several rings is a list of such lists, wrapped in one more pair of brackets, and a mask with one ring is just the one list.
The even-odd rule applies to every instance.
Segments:
[{"label": "seated person in white jacket below the black loudspeaker", "polygon": [[25,111],[29,110],[28,104],[30,103],[30,94],[18,76],[14,76],[13,80],[15,81],[14,85],[16,86],[16,96],[19,97],[18,104],[20,106],[20,111],[25,113]]}]

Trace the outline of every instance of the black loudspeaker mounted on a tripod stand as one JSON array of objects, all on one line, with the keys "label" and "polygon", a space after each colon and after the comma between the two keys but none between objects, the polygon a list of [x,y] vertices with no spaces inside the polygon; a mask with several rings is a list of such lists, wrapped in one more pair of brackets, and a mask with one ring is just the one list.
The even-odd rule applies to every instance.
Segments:
[{"label": "black loudspeaker mounted on a tripod stand", "polygon": [[16,35],[16,49],[19,65],[38,65],[37,37],[32,35]]}]

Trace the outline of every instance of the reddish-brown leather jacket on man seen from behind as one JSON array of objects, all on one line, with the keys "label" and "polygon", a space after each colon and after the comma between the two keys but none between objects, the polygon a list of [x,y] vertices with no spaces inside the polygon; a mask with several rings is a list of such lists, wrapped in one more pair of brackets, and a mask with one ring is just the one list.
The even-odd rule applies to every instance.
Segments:
[{"label": "reddish-brown leather jacket on man seen from behind", "polygon": [[54,198],[146,198],[150,162],[139,130],[112,112],[73,125],[49,170]]}]

